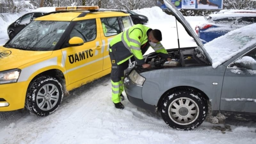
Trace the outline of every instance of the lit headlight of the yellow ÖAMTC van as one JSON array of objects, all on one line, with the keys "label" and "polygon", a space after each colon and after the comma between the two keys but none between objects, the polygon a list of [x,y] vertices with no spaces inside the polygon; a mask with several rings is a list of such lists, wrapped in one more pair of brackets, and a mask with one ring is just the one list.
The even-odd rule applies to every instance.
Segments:
[{"label": "lit headlight of the yellow \u00d6AMTC van", "polygon": [[21,72],[21,70],[18,68],[1,71],[0,72],[0,84],[16,83],[20,76],[20,72]]}]

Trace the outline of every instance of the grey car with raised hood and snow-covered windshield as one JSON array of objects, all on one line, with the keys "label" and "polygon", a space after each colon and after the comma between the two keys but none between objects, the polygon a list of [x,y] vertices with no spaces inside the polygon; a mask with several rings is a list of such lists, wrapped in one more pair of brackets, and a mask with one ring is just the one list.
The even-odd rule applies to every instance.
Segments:
[{"label": "grey car with raised hood and snow-covered windshield", "polygon": [[[167,50],[172,61],[145,55],[150,69],[135,66],[125,74],[129,101],[161,113],[172,128],[190,130],[219,112],[256,113],[256,24],[203,45],[182,14],[165,5],[198,47]],[[215,48],[221,48],[216,53]],[[227,50],[226,52],[222,52]]]}]

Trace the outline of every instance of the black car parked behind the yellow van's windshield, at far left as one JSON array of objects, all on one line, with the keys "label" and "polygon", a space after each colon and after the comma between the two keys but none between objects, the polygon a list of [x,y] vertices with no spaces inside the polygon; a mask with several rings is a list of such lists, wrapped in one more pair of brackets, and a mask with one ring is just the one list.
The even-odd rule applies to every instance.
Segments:
[{"label": "black car parked behind the yellow van's windshield, at far left", "polygon": [[46,14],[45,12],[30,12],[8,26],[7,32],[10,39],[12,39],[21,29],[28,25],[34,18],[38,18]]}]

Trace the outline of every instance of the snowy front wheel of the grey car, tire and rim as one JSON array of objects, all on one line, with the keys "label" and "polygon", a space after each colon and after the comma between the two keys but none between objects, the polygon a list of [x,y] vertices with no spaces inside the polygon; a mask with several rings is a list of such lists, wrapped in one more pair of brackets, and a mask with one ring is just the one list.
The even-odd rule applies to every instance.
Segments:
[{"label": "snowy front wheel of the grey car, tire and rim", "polygon": [[179,130],[191,130],[203,123],[208,107],[200,92],[184,88],[167,92],[160,111],[168,126]]}]

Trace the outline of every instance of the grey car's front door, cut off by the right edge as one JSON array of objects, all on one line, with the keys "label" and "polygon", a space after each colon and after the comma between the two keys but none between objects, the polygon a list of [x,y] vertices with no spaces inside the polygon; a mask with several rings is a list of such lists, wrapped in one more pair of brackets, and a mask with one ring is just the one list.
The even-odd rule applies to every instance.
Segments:
[{"label": "grey car's front door, cut off by the right edge", "polygon": [[236,63],[244,56],[256,60],[256,48],[236,59],[226,69],[220,102],[222,111],[256,112],[256,70]]}]

